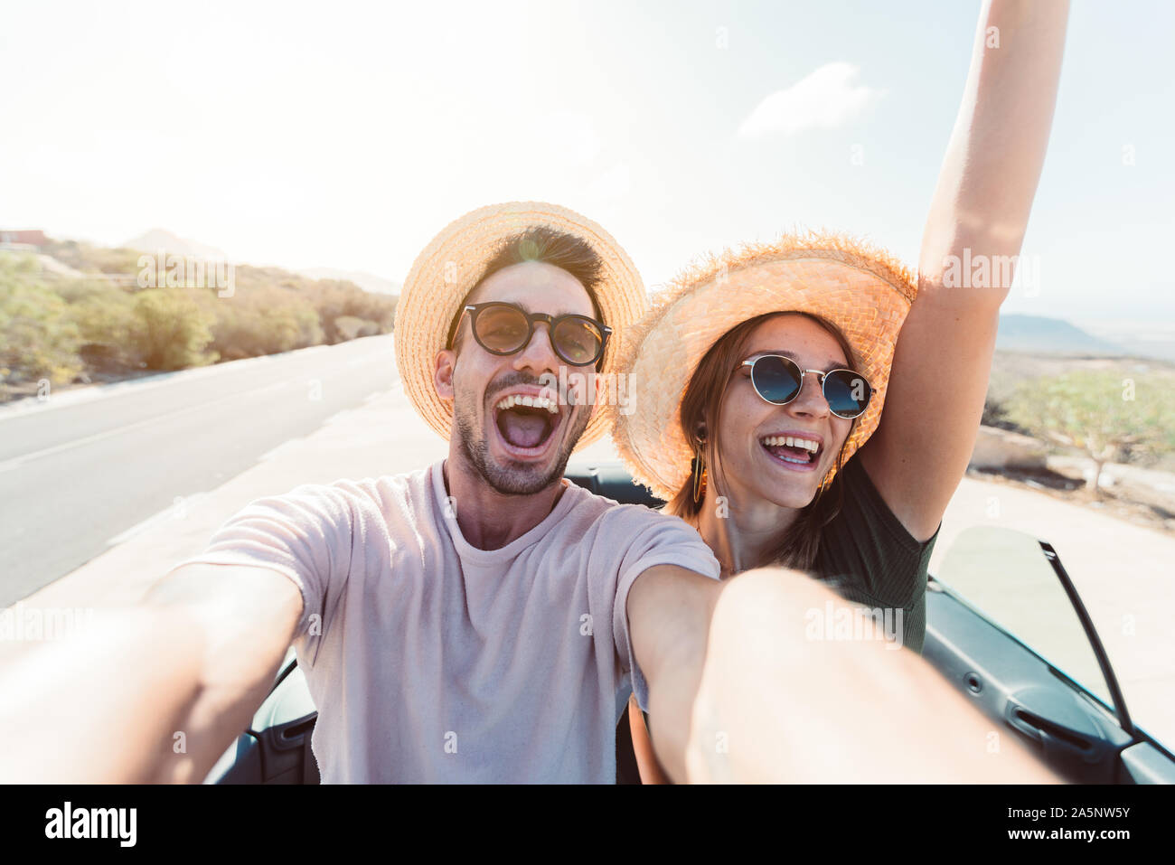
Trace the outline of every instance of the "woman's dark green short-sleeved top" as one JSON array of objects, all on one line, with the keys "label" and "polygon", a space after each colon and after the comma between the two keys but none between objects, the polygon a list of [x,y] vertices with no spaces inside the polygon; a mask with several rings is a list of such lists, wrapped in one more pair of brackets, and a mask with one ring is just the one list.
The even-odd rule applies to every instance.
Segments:
[{"label": "woman's dark green short-sleeved top", "polygon": [[939,532],[926,543],[915,541],[881,498],[857,455],[833,483],[841,487],[840,512],[824,527],[813,570],[821,579],[833,581],[845,599],[882,611],[875,616],[891,616],[885,619],[887,628],[891,623],[897,626],[900,610],[902,645],[921,653],[926,569]]}]

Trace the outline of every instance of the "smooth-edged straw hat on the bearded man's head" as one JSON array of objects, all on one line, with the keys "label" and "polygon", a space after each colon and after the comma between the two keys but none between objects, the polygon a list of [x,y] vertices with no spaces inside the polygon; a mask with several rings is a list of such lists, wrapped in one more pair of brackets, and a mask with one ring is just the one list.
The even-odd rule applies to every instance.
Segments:
[{"label": "smooth-edged straw hat on the bearded man's head", "polygon": [[[603,262],[596,300],[604,323],[613,333],[605,347],[602,373],[615,373],[617,336],[647,308],[644,283],[627,254],[612,235],[573,210],[539,201],[511,201],[478,208],[450,222],[412,263],[396,304],[395,324],[396,366],[404,393],[443,438],[449,438],[452,410],[432,387],[436,355],[445,348],[462,301],[481,281],[503,243],[538,227],[586,241]],[[606,431],[605,413],[595,411],[577,449]]]}]

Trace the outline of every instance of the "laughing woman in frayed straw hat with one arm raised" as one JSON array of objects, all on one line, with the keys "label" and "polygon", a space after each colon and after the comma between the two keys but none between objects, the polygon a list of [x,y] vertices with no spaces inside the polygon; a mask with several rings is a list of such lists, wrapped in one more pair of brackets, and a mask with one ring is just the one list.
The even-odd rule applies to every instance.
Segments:
[{"label": "laughing woman in frayed straw hat with one arm raised", "polygon": [[[698,529],[723,578],[806,569],[921,651],[926,566],[1009,289],[959,279],[959,262],[989,276],[1020,252],[1066,18],[1065,4],[985,6],[916,280],[850,237],[790,235],[679,276],[626,337],[620,368],[640,403],[615,415],[617,449]],[[818,619],[804,624],[826,632]],[[663,780],[637,709],[642,777]]]}]

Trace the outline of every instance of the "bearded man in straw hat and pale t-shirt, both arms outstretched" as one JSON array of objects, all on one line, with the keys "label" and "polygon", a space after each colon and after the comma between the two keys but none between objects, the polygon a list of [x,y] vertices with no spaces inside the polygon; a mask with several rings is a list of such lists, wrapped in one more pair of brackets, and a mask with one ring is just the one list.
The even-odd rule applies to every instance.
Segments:
[{"label": "bearded man in straw hat and pale t-shirt, both arms outstretched", "polygon": [[[1050,779],[1014,743],[991,755],[989,725],[913,653],[805,641],[827,589],[780,570],[719,583],[685,523],[562,478],[605,431],[613,334],[643,308],[627,256],[578,214],[513,203],[450,224],[396,330],[448,457],[258,499],[125,622],[9,666],[38,711],[89,683],[103,738],[0,712],[0,777],[200,782],[293,642],[328,783],[611,783],[626,680],[674,780]],[[925,717],[948,732],[915,735]]]}]

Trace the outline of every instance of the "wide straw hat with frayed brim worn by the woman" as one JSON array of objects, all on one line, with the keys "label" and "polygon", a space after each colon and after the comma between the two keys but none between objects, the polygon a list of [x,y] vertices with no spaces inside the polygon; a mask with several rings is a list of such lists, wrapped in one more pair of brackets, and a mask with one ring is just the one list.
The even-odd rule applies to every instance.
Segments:
[{"label": "wide straw hat with frayed brim worn by the woman", "polygon": [[[874,388],[845,447],[845,461],[877,429],[898,331],[918,293],[901,262],[840,234],[786,234],[726,250],[678,275],[622,348],[634,411],[613,409],[612,437],[633,480],[669,501],[690,477],[693,452],[682,400],[703,356],[736,324],[764,313],[804,311],[840,328]],[[832,480],[833,470],[825,478]]]}]

